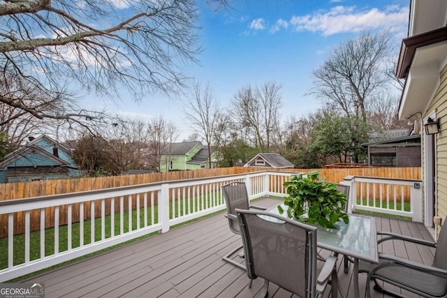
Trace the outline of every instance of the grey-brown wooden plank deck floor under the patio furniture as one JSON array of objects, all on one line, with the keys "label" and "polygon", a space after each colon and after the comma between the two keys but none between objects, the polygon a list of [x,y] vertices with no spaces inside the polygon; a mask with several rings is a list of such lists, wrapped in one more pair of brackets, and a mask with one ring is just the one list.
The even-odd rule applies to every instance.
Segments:
[{"label": "grey-brown wooden plank deck floor under the patio furniture", "polygon": [[[279,201],[263,199],[256,205],[273,207]],[[423,224],[377,217],[377,230],[432,239]],[[122,246],[71,265],[59,267],[23,283],[45,283],[45,297],[255,297],[263,286],[257,278],[248,288],[245,271],[221,260],[240,244],[230,232],[223,213],[205,218],[165,234]],[[433,251],[390,241],[379,251],[396,253],[425,263]],[[353,297],[352,265],[344,274],[339,260],[339,286]],[[365,293],[365,274],[360,274],[360,296]],[[269,297],[291,297],[291,293],[270,286]],[[325,297],[329,297],[330,287]],[[409,293],[403,293],[408,295]],[[374,297],[383,297],[373,291]],[[410,297],[411,293],[409,294]]]}]

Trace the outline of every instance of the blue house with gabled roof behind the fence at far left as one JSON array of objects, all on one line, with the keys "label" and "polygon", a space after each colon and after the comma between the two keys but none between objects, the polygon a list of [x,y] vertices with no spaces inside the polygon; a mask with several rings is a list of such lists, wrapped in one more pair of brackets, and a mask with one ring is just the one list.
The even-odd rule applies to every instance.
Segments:
[{"label": "blue house with gabled roof behind the fence at far left", "polygon": [[64,145],[41,135],[5,156],[0,162],[0,183],[79,177],[81,172]]}]

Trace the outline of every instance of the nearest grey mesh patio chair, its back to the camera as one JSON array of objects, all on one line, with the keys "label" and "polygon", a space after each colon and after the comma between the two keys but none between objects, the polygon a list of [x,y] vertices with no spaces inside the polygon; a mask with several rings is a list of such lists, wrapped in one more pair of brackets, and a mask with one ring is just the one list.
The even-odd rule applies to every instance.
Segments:
[{"label": "nearest grey mesh patio chair, its back to the camera", "polygon": [[331,283],[332,298],[337,297],[337,258],[330,255],[317,271],[316,227],[266,211],[236,211],[247,275],[251,281],[264,278],[259,297],[268,296],[270,282],[308,298],[323,294]]}]

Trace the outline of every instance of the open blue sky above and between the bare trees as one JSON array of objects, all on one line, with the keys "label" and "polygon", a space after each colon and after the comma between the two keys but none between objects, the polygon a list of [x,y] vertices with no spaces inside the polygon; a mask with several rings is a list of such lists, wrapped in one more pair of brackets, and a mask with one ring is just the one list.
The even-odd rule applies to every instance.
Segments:
[{"label": "open blue sky above and between the bare trees", "polygon": [[[395,53],[406,37],[409,0],[240,0],[231,10],[214,12],[200,1],[200,65],[186,73],[209,82],[214,96],[228,106],[244,85],[269,80],[282,85],[283,119],[300,117],[320,106],[305,96],[312,87],[312,70],[331,50],[363,30],[388,29]],[[184,128],[178,99],[154,95],[142,103],[123,98],[108,103],[111,112],[143,120],[163,116]],[[182,131],[186,137],[189,131]]]}]

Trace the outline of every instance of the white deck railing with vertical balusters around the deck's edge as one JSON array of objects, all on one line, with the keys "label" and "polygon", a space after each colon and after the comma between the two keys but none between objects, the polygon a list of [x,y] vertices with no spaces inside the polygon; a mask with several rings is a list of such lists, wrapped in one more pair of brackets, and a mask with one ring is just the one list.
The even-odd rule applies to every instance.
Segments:
[{"label": "white deck railing with vertical balusters around the deck's edge", "polygon": [[[232,181],[247,184],[250,200],[285,197],[283,184],[291,174],[254,172],[1,201],[0,214],[6,220],[0,228],[7,229],[7,237],[0,239],[0,282],[221,211],[226,208],[221,186]],[[350,198],[357,198],[351,199],[351,210],[404,214],[422,221],[421,193],[414,187],[420,181],[346,177],[344,183],[351,185]],[[396,209],[406,187],[411,188],[410,211]],[[379,189],[387,191],[378,196]]]}]

